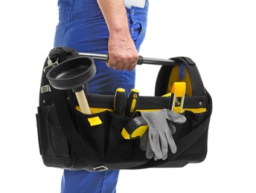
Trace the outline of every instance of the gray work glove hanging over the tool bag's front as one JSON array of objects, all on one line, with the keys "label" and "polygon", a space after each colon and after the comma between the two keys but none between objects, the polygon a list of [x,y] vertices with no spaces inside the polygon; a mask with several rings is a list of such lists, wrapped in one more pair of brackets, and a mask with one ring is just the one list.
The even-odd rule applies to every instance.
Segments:
[{"label": "gray work glove hanging over the tool bag's front", "polygon": [[149,128],[141,137],[141,150],[146,151],[146,157],[165,160],[168,154],[168,145],[170,151],[175,154],[177,147],[172,134],[175,134],[176,128],[173,122],[183,123],[186,121],[186,117],[165,108],[161,111],[141,111],[141,116],[149,124]]}]

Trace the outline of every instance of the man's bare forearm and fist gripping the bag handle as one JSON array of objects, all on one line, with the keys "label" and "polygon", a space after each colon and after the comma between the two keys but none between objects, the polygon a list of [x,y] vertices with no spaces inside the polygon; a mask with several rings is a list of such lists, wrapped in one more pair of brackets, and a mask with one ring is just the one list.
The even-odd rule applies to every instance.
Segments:
[{"label": "man's bare forearm and fist gripping the bag handle", "polygon": [[97,0],[109,28],[108,66],[116,70],[135,68],[138,52],[129,34],[127,11],[123,0]]}]

